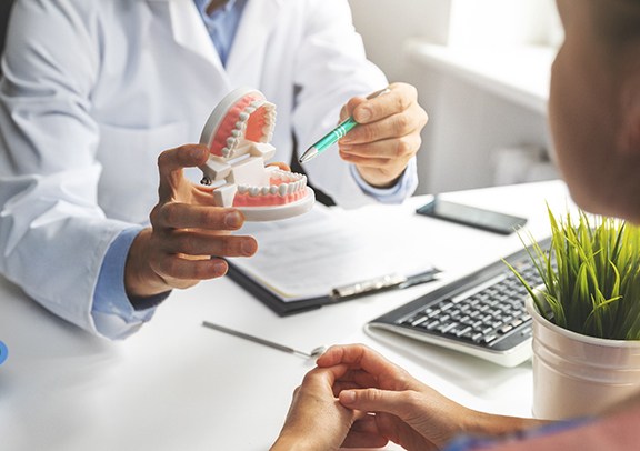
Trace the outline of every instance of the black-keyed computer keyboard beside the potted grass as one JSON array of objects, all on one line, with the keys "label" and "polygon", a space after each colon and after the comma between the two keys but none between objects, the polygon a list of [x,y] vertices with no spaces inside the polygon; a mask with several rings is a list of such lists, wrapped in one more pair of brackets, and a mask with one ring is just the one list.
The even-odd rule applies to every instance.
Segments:
[{"label": "black-keyed computer keyboard beside the potted grass", "polygon": [[[549,248],[550,240],[539,242]],[[507,260],[531,287],[542,283],[526,249]],[[454,349],[503,367],[531,357],[531,317],[527,289],[499,260],[374,319],[369,332],[382,329]]]}]

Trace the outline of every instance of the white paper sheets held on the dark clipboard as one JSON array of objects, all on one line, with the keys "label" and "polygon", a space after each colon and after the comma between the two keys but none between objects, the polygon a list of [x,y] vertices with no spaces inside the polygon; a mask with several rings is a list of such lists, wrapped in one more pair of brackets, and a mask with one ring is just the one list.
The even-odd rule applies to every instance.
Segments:
[{"label": "white paper sheets held on the dark clipboard", "polygon": [[416,255],[411,235],[334,208],[317,206],[302,217],[252,223],[242,230],[258,240],[249,259],[230,259],[244,274],[283,302],[327,297],[337,287],[432,269]]}]

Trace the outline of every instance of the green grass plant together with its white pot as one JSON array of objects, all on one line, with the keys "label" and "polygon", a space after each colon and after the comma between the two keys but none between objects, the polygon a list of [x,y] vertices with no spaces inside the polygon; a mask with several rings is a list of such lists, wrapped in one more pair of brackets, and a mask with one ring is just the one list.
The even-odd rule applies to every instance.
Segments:
[{"label": "green grass plant together with its white pot", "polygon": [[548,211],[549,249],[532,237],[527,248],[543,283],[530,287],[511,270],[530,293],[533,414],[560,420],[640,391],[640,228]]}]

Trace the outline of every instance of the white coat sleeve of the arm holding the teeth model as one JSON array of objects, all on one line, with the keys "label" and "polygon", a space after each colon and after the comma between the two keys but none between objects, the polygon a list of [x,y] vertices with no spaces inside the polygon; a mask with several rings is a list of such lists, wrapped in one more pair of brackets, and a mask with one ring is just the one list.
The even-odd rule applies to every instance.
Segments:
[{"label": "white coat sleeve of the arm holding the teeth model", "polygon": [[97,202],[90,116],[98,39],[67,2],[14,6],[0,86],[0,271],[56,314],[96,333],[102,259],[131,224]]}]

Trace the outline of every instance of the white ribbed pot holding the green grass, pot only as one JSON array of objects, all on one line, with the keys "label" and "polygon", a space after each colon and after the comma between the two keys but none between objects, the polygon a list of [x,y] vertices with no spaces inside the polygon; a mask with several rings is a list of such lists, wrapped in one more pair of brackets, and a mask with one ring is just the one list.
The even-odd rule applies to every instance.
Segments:
[{"label": "white ribbed pot holding the green grass, pot only", "polygon": [[589,415],[640,391],[640,341],[599,339],[559,328],[531,298],[533,318],[533,417]]}]

